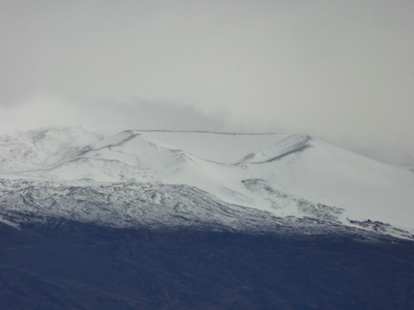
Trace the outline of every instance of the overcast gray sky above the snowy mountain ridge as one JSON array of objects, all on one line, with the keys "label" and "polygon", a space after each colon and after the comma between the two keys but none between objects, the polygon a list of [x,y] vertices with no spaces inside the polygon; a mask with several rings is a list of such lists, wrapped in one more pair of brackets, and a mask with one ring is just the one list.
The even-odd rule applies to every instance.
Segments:
[{"label": "overcast gray sky above the snowy mountain ridge", "polygon": [[3,1],[0,131],[308,133],[414,163],[414,1]]}]

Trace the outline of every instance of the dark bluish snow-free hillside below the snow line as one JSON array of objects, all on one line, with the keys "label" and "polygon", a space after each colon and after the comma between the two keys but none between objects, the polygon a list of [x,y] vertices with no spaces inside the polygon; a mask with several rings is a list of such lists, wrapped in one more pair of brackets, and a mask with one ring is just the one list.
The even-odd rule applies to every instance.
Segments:
[{"label": "dark bluish snow-free hillside below the snow line", "polygon": [[414,243],[0,225],[0,309],[414,309]]}]

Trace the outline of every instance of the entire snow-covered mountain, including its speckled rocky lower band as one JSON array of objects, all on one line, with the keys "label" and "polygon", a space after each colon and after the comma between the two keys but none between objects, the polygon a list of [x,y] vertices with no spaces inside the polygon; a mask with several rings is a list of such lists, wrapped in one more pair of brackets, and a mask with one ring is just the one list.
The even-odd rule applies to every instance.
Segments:
[{"label": "entire snow-covered mountain, including its speckled rocky lower band", "polygon": [[21,132],[0,136],[0,178],[5,223],[414,231],[413,172],[306,135]]}]

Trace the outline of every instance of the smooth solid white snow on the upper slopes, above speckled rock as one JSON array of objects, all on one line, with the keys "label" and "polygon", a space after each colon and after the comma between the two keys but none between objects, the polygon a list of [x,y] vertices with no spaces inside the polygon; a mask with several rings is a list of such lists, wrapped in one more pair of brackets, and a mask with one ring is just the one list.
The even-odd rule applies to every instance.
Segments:
[{"label": "smooth solid white snow on the upper slopes, above speckled rock", "polygon": [[414,229],[413,172],[306,135],[48,129],[0,136],[0,164],[1,178],[184,184],[277,216]]}]

